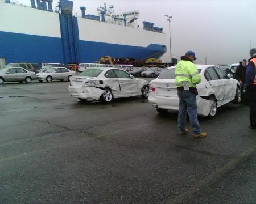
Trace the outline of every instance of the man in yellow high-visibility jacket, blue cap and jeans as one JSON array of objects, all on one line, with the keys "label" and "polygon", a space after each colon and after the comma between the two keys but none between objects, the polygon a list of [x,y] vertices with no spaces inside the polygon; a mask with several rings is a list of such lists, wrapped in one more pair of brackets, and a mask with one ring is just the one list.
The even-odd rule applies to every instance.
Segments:
[{"label": "man in yellow high-visibility jacket, blue cap and jeans", "polygon": [[188,133],[185,128],[186,116],[188,113],[189,122],[194,133],[194,137],[205,137],[207,133],[201,131],[197,118],[196,84],[201,82],[201,76],[197,67],[193,63],[196,60],[195,53],[188,51],[185,56],[181,56],[181,60],[175,67],[175,83],[177,87],[177,95],[179,96],[179,116],[178,128],[179,134]]}]

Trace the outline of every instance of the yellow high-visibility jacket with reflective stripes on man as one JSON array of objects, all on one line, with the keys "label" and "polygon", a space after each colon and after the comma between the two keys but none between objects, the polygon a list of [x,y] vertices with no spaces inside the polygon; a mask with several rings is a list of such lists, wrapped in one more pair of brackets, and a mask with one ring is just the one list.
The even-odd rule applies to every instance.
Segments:
[{"label": "yellow high-visibility jacket with reflective stripes on man", "polygon": [[[188,60],[181,60],[175,67],[176,87],[196,87],[201,82],[201,75],[196,65]],[[186,84],[186,85],[185,85]]]}]

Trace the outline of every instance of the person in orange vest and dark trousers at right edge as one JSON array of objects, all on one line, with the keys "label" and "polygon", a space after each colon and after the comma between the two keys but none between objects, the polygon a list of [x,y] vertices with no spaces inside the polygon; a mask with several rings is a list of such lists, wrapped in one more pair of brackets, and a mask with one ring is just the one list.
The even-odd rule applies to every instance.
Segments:
[{"label": "person in orange vest and dark trousers at right edge", "polygon": [[250,107],[249,128],[256,129],[256,48],[250,50],[245,77],[246,104]]}]

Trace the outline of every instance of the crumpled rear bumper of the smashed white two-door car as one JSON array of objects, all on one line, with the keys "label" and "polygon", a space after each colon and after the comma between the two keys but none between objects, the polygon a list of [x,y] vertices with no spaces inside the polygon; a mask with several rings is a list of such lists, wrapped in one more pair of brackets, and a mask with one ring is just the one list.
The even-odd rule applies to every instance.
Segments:
[{"label": "crumpled rear bumper of the smashed white two-door car", "polygon": [[86,86],[68,86],[68,92],[72,97],[81,98],[85,100],[100,100],[104,90],[95,87]]}]

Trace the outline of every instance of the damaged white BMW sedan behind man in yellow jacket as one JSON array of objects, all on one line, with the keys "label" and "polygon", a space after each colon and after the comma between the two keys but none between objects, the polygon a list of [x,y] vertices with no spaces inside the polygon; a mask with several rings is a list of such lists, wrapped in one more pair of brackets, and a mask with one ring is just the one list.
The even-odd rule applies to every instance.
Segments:
[{"label": "damaged white BMW sedan behind man in yellow jacket", "polygon": [[[214,117],[217,107],[241,100],[240,84],[230,78],[217,66],[196,65],[201,74],[197,84],[197,113],[201,116]],[[158,112],[179,110],[179,97],[175,86],[175,66],[169,67],[158,78],[150,82],[149,102]]]}]

